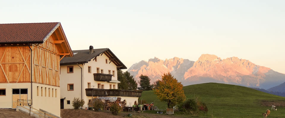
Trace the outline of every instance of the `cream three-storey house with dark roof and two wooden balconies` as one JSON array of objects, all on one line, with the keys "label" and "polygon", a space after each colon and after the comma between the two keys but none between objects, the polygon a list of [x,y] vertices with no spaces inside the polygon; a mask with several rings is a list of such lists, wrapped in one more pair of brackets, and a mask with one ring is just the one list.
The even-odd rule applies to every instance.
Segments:
[{"label": "cream three-storey house with dark roof and two wooden balconies", "polygon": [[84,99],[85,106],[94,97],[121,97],[126,106],[137,104],[141,92],[118,89],[117,69],[126,66],[109,48],[73,50],[73,57],[60,61],[61,109],[73,109],[72,100]]}]

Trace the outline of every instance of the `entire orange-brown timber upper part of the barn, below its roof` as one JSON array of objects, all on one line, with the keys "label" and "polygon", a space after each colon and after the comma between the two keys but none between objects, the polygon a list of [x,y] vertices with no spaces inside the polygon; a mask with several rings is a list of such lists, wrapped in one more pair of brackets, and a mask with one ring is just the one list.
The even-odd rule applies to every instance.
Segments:
[{"label": "entire orange-brown timber upper part of the barn, below its roof", "polygon": [[43,43],[1,44],[0,83],[30,83],[32,76],[33,83],[59,87],[60,59],[72,55],[60,23]]}]

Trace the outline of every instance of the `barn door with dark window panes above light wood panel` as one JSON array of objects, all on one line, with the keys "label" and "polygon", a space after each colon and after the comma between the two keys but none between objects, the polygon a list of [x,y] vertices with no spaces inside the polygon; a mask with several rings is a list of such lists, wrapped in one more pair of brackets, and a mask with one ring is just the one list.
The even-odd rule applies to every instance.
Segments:
[{"label": "barn door with dark window panes above light wood panel", "polygon": [[12,89],[12,108],[16,108],[17,100],[28,100],[28,89]]}]

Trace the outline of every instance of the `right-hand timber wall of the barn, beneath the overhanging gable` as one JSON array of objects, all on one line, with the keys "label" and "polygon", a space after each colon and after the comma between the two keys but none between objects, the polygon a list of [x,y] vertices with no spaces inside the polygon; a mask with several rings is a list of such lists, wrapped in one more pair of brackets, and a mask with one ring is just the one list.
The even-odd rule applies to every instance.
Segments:
[{"label": "right-hand timber wall of the barn, beneath the overhanging gable", "polygon": [[33,82],[59,86],[59,50],[51,35],[43,44],[33,45],[34,74]]}]

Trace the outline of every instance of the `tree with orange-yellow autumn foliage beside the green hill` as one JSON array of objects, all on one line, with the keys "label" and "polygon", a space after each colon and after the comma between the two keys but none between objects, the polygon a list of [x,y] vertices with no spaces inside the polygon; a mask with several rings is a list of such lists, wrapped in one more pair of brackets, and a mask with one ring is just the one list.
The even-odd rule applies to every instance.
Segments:
[{"label": "tree with orange-yellow autumn foliage beside the green hill", "polygon": [[159,87],[154,91],[159,100],[167,102],[168,108],[172,108],[186,99],[183,85],[169,72],[163,74],[161,81],[159,81]]}]

